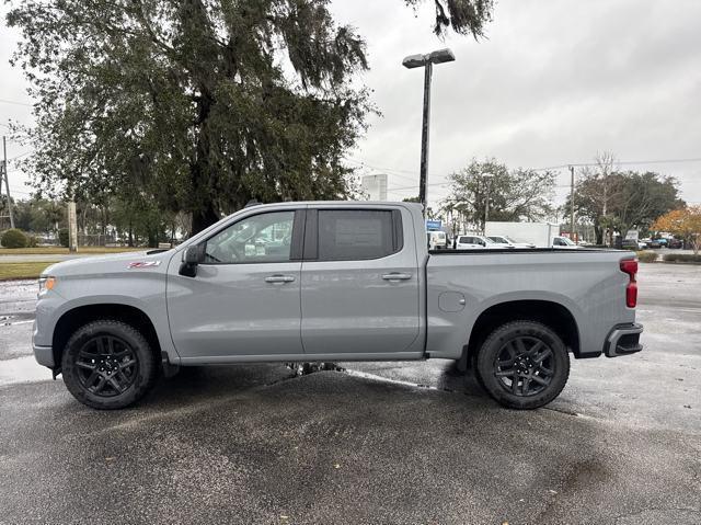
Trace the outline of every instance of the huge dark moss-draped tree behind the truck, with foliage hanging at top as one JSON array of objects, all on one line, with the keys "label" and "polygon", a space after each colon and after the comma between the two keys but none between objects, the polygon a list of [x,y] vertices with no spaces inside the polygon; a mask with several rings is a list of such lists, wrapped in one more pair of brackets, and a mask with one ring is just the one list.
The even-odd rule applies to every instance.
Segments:
[{"label": "huge dark moss-draped tree behind the truck, with foliage hanging at top", "polygon": [[[261,201],[352,192],[342,156],[372,107],[364,41],[327,0],[24,0],[38,187],[153,198],[194,231]],[[416,7],[422,0],[406,0]],[[491,0],[434,0],[435,32],[475,37]]]}]

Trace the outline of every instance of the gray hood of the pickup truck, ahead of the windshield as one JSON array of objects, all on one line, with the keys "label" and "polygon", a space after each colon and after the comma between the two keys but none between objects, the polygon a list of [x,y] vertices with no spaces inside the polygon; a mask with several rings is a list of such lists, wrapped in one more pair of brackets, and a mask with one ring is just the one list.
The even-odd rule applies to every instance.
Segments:
[{"label": "gray hood of the pickup truck, ahead of the windshield", "polygon": [[51,264],[42,272],[42,275],[83,276],[104,275],[135,271],[151,271],[164,273],[169,259],[174,250],[147,254],[142,252],[124,252],[108,255],[87,255]]}]

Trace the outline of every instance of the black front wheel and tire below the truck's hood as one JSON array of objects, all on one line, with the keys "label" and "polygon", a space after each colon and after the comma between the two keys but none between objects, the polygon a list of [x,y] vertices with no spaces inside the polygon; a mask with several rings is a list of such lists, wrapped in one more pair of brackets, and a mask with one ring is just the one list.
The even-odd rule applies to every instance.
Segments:
[{"label": "black front wheel and tire below the truck's hood", "polygon": [[157,377],[156,355],[134,327],[111,319],[89,322],[70,336],[61,359],[68,391],[81,403],[115,410],[138,401]]}]

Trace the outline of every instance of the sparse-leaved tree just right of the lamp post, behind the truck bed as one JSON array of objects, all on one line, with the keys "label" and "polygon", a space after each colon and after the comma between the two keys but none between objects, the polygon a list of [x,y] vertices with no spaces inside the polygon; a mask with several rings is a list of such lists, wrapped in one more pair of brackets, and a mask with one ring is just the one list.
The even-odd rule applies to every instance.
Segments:
[{"label": "sparse-leaved tree just right of the lamp post, behind the truck bed", "polygon": [[484,229],[487,201],[490,220],[541,220],[553,212],[555,176],[552,171],[509,170],[495,159],[473,160],[449,176],[450,194],[441,208],[452,219],[459,217],[455,221],[463,228],[479,230]]}]

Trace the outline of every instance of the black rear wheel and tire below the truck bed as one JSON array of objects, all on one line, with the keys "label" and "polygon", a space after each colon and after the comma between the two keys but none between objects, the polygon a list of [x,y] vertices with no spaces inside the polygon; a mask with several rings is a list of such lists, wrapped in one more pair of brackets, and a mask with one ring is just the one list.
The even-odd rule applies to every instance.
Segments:
[{"label": "black rear wheel and tire below the truck bed", "polygon": [[570,377],[570,354],[545,324],[520,320],[502,324],[482,343],[475,373],[504,407],[531,410],[555,399]]}]

